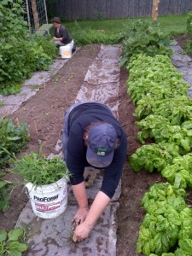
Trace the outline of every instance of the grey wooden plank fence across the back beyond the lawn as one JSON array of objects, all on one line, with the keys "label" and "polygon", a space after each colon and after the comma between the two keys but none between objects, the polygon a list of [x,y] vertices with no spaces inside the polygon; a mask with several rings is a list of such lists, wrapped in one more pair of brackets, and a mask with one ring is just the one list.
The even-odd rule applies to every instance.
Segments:
[{"label": "grey wooden plank fence across the back beyond the lawn", "polygon": [[[151,16],[153,0],[49,0],[51,16],[64,20],[99,20]],[[160,0],[159,15],[187,14],[192,0]]]}]

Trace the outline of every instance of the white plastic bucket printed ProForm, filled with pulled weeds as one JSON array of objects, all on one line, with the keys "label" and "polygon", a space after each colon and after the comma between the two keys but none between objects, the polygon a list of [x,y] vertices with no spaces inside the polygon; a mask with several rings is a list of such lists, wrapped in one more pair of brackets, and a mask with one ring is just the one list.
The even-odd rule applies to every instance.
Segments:
[{"label": "white plastic bucket printed ProForm, filled with pulled weeds", "polygon": [[61,178],[56,183],[36,187],[26,183],[32,211],[39,218],[55,218],[67,208],[67,180]]}]

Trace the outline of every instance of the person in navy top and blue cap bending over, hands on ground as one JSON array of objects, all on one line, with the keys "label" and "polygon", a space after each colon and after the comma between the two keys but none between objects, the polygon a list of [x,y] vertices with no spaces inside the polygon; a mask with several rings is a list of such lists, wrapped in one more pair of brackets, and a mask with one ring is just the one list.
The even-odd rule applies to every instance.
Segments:
[{"label": "person in navy top and blue cap bending over, hands on ground", "polygon": [[[98,102],[75,103],[67,109],[62,152],[71,174],[79,210],[73,218],[73,241],[83,241],[108,206],[122,176],[127,152],[125,131],[111,110]],[[90,209],[84,185],[84,167],[104,168],[102,187]],[[93,171],[94,172],[94,171]]]}]

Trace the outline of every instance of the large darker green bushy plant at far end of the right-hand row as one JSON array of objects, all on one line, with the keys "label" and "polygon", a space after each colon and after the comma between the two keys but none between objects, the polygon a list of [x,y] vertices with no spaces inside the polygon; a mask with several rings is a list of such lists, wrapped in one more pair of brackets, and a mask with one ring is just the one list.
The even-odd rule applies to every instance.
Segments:
[{"label": "large darker green bushy plant at far end of the right-hand row", "polygon": [[120,33],[120,41],[124,49],[120,61],[121,66],[127,66],[132,55],[145,53],[149,56],[172,55],[169,49],[170,39],[160,24],[148,21],[132,21],[124,32]]}]

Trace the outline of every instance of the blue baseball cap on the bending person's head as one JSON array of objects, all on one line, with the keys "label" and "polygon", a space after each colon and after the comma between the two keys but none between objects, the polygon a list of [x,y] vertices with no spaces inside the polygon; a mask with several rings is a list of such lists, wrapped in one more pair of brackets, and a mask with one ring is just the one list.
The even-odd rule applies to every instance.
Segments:
[{"label": "blue baseball cap on the bending person's head", "polygon": [[100,124],[90,128],[86,159],[91,166],[103,168],[111,164],[117,132],[111,124]]}]

